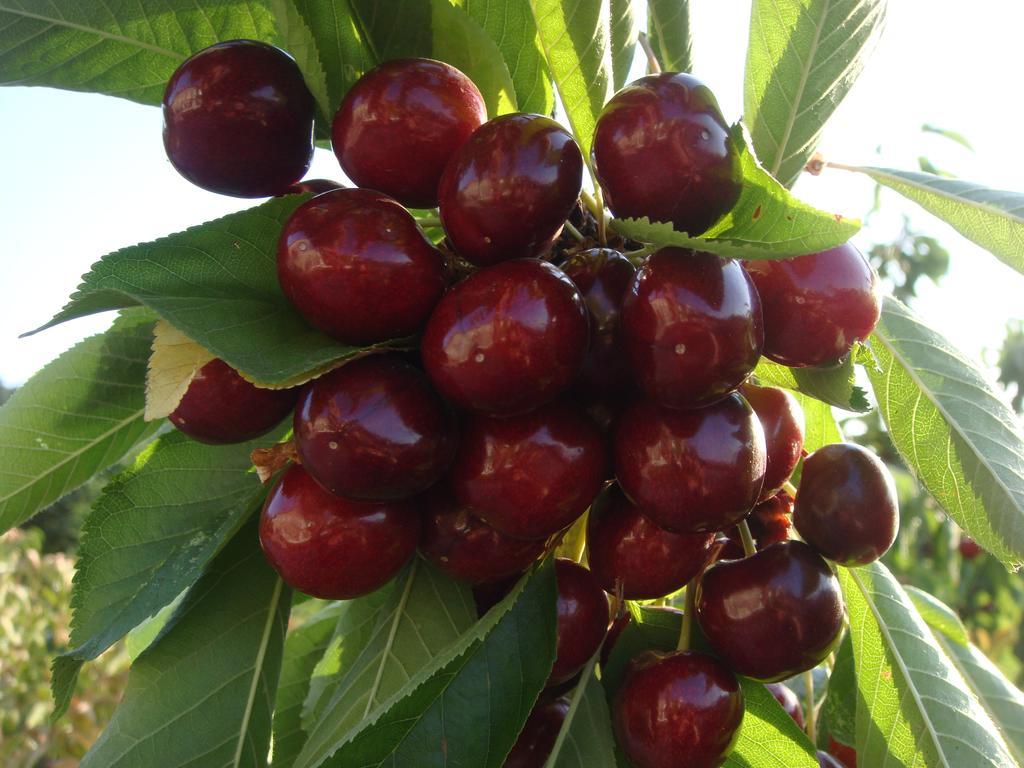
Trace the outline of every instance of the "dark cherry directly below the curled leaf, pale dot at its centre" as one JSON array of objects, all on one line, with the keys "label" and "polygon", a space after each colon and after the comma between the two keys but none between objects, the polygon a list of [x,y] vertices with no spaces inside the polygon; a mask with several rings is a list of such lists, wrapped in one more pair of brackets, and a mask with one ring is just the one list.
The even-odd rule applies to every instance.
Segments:
[{"label": "dark cherry directly below the curled leaf, pale dot at its centre", "polygon": [[637,383],[670,408],[722,399],[757,366],[763,331],[754,284],[737,261],[663,248],[623,299],[623,340]]}]

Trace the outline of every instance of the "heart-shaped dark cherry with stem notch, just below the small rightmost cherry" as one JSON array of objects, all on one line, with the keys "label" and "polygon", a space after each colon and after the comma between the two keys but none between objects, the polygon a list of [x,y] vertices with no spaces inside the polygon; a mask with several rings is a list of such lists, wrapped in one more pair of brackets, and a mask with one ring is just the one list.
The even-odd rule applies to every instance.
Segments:
[{"label": "heart-shaped dark cherry with stem notch, just below the small rightmost cherry", "polygon": [[737,675],[777,682],[819,665],[843,633],[843,594],[819,554],[803,542],[773,544],[705,571],[697,621]]}]

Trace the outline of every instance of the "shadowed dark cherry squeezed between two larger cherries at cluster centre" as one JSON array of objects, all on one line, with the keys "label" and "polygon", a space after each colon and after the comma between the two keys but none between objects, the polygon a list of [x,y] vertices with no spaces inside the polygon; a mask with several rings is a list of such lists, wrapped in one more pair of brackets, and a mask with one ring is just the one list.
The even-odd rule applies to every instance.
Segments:
[{"label": "shadowed dark cherry squeezed between two larger cherries at cluster centre", "polygon": [[610,397],[630,388],[629,360],[618,333],[618,310],[636,267],[618,251],[592,248],[562,263],[590,312],[590,349],[575,386],[584,394]]}]

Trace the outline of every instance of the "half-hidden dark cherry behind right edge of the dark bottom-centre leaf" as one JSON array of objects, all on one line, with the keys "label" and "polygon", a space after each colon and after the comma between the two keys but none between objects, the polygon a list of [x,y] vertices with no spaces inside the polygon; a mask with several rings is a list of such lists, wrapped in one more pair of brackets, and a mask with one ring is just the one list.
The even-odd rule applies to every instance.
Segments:
[{"label": "half-hidden dark cherry behind right edge of the dark bottom-centre leaf", "polygon": [[579,563],[555,560],[558,582],[558,640],[548,685],[565,682],[597,652],[608,631],[608,598]]}]

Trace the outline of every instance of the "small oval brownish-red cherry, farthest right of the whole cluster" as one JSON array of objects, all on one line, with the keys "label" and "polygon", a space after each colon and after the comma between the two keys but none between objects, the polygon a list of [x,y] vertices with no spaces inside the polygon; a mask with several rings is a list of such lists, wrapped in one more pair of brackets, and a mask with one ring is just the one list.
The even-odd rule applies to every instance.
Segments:
[{"label": "small oval brownish-red cherry, farthest right of the whole cluster", "polygon": [[855,443],[820,447],[804,460],[793,522],[829,560],[847,566],[874,562],[899,530],[892,474]]}]

